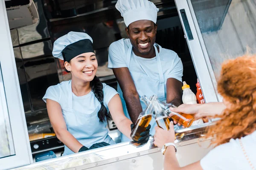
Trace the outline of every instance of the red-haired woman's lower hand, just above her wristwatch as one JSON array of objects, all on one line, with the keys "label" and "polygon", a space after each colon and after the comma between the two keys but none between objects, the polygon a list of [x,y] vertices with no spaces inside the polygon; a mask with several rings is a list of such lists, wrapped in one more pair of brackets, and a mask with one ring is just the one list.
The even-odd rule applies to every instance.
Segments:
[{"label": "red-haired woman's lower hand, just above her wristwatch", "polygon": [[175,141],[175,131],[174,131],[174,125],[173,122],[170,122],[170,129],[169,130],[163,130],[160,127],[155,127],[156,133],[154,135],[154,144],[157,145],[157,147],[162,148],[164,144]]}]

